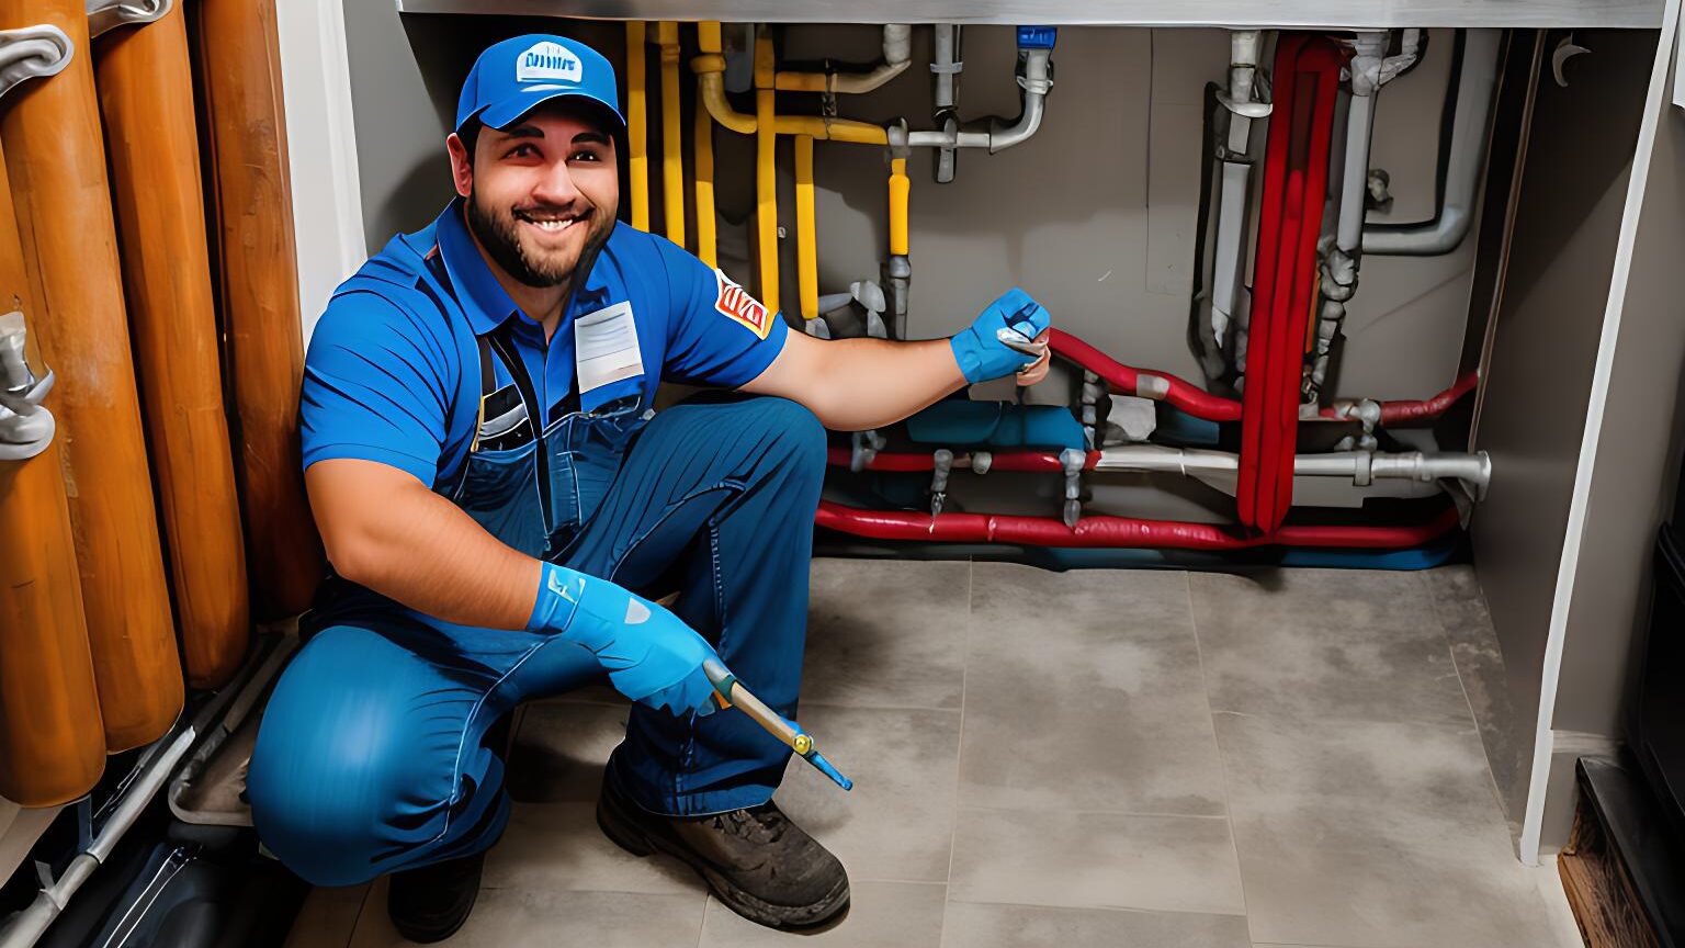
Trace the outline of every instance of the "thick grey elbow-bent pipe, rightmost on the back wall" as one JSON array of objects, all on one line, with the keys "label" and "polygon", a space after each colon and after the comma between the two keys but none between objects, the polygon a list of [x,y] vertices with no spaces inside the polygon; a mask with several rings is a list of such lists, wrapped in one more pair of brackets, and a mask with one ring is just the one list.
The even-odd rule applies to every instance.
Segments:
[{"label": "thick grey elbow-bent pipe, rightmost on the back wall", "polygon": [[1368,224],[1363,253],[1393,256],[1437,256],[1463,243],[1474,223],[1474,191],[1486,164],[1486,125],[1493,88],[1498,81],[1498,49],[1503,30],[1466,30],[1463,62],[1458,67],[1451,142],[1446,145],[1446,180],[1439,211],[1412,224]]}]

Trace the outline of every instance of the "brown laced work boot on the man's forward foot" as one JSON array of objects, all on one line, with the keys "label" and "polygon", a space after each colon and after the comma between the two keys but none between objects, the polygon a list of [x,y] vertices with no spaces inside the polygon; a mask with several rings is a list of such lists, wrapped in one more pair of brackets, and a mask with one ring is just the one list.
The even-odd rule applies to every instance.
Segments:
[{"label": "brown laced work boot on the man's forward foot", "polygon": [[596,825],[632,855],[682,859],[731,911],[768,928],[814,928],[849,904],[837,857],[772,801],[711,816],[661,816],[603,774]]}]

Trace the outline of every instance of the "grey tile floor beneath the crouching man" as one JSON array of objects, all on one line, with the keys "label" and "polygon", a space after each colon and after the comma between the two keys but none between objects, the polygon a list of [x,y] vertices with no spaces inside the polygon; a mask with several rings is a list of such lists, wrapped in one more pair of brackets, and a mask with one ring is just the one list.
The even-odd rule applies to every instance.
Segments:
[{"label": "grey tile floor beneath the crouching man", "polygon": [[[794,764],[778,794],[853,881],[814,945],[1579,945],[1554,869],[1511,850],[1466,567],[816,560],[812,590],[800,717],[856,781]],[[531,707],[509,833],[452,943],[805,943],[602,837],[623,724],[605,690]],[[398,943],[381,882],[318,889],[290,940]]]}]

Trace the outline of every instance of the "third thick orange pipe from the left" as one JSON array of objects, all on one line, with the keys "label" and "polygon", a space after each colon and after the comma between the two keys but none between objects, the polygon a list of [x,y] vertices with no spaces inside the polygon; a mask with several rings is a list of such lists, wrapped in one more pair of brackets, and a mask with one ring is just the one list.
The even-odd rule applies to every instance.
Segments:
[{"label": "third thick orange pipe from the left", "polygon": [[180,3],[103,37],[94,78],[187,680],[217,688],[246,658],[251,617]]}]

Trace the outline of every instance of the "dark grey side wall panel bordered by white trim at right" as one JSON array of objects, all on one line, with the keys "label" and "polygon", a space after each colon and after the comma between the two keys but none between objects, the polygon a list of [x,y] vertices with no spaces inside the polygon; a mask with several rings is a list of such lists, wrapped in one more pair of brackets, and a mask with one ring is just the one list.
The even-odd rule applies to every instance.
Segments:
[{"label": "dark grey side wall panel bordered by white trim at right", "polygon": [[[1532,761],[1550,604],[1655,35],[1579,30],[1577,42],[1594,52],[1570,64],[1567,88],[1550,79],[1547,57],[1522,170],[1476,435],[1478,447],[1493,455],[1493,482],[1473,526],[1476,570],[1503,644],[1523,774]],[[1586,550],[1591,557],[1582,567],[1596,558],[1594,547]],[[1564,683],[1560,695],[1574,705],[1569,692],[1575,687],[1567,678]],[[1547,835],[1547,842],[1560,837]]]}]

